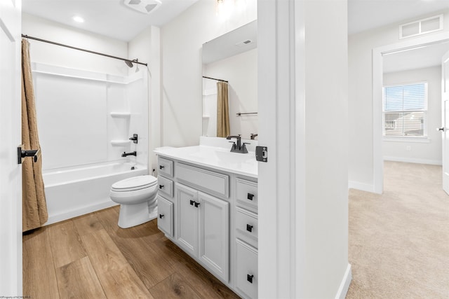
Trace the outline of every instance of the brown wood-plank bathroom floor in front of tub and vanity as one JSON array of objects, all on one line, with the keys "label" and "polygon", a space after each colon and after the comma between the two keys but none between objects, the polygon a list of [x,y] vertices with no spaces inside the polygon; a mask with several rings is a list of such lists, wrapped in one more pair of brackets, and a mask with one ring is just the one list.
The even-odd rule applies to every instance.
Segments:
[{"label": "brown wood-plank bathroom floor in front of tub and vanity", "polygon": [[117,226],[119,207],[23,235],[23,295],[48,298],[239,298],[170,242],[156,220]]}]

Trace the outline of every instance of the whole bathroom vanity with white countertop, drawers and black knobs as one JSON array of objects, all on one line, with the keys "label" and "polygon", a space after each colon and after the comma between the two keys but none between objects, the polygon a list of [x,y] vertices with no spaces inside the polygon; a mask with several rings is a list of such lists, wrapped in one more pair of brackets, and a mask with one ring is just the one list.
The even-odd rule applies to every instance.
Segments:
[{"label": "whole bathroom vanity with white countertop, drawers and black knobs", "polygon": [[238,295],[257,298],[257,162],[229,148],[156,149],[158,227]]}]

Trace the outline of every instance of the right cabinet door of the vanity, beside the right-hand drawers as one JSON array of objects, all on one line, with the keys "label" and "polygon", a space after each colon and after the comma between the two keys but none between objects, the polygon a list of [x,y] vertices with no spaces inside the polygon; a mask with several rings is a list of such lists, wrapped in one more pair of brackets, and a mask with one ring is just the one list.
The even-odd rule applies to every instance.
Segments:
[{"label": "right cabinet door of the vanity, beside the right-hand drawers", "polygon": [[229,202],[199,192],[199,258],[217,277],[229,281]]}]

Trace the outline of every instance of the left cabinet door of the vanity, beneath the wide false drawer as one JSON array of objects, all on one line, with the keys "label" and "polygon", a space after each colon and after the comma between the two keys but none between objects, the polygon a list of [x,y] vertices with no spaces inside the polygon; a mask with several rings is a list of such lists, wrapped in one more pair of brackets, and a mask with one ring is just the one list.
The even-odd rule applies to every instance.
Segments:
[{"label": "left cabinet door of the vanity, beneath the wide false drawer", "polygon": [[[198,255],[198,192],[192,188],[176,184],[178,245],[193,256]],[[198,205],[199,206],[199,205]]]}]

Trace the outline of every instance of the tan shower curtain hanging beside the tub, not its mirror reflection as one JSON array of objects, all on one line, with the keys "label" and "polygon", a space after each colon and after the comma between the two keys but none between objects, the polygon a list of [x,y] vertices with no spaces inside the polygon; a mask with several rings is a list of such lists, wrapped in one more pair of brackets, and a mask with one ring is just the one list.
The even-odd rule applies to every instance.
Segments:
[{"label": "tan shower curtain hanging beside the tub, not its mirror reflection", "polygon": [[[41,148],[37,134],[29,43],[22,39],[22,149]],[[48,219],[43,190],[42,161],[25,158],[22,162],[22,230],[39,228]]]}]

